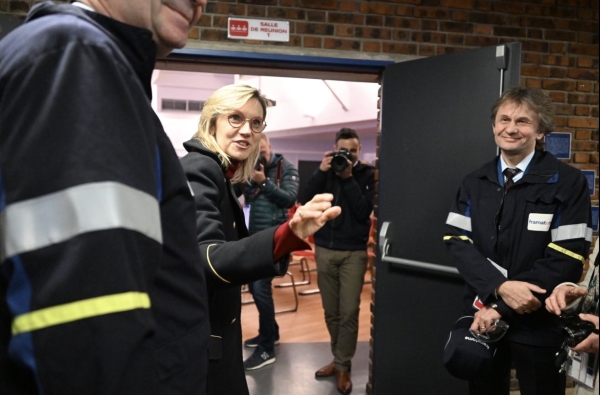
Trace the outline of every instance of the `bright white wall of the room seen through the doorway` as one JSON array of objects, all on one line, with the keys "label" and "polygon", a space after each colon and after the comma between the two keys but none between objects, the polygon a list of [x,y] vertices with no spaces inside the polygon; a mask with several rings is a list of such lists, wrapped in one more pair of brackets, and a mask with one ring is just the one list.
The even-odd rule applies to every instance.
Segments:
[{"label": "bright white wall of the room seen through the doorway", "polygon": [[156,70],[152,107],[179,156],[185,154],[182,144],[195,133],[200,114],[161,111],[161,100],[205,101],[216,89],[235,82],[254,86],[276,101],[263,133],[290,162],[321,160],[342,127],[356,129],[361,136],[362,160],[372,162],[375,157],[378,84]]}]

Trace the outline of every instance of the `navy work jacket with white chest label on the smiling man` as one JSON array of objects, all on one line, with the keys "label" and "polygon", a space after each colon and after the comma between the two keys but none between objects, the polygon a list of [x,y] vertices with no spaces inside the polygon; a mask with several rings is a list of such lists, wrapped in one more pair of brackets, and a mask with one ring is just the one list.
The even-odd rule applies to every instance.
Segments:
[{"label": "navy work jacket with white chest label on the smiling man", "polygon": [[[503,186],[497,157],[465,177],[446,222],[444,240],[466,280],[465,313],[476,311],[478,295],[484,304],[497,302],[509,339],[560,346],[559,319],[543,306],[558,284],[581,277],[592,236],[587,181],[579,169],[536,151],[523,177],[506,193]],[[507,270],[508,280],[545,289],[534,293],[542,307],[519,315],[496,300],[494,290],[507,278],[488,259]]]}]

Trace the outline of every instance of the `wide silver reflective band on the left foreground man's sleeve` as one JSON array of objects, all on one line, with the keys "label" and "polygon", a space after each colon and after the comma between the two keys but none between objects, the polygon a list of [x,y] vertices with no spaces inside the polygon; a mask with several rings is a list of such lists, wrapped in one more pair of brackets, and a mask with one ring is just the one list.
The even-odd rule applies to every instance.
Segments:
[{"label": "wide silver reflective band on the left foreground man's sleeve", "polygon": [[0,213],[0,263],[87,232],[115,228],[138,231],[162,243],[156,198],[109,181],[13,203]]}]

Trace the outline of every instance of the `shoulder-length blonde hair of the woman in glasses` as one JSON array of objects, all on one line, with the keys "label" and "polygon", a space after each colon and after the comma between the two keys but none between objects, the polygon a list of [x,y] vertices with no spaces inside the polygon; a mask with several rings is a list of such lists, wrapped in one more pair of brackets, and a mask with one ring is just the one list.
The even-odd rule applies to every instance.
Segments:
[{"label": "shoulder-length blonde hair of the woman in glasses", "polygon": [[[263,119],[265,119],[267,116],[268,99],[261,95],[258,89],[249,85],[225,85],[217,89],[208,98],[206,103],[204,103],[204,107],[202,108],[198,131],[192,138],[200,140],[202,145],[215,152],[219,156],[221,164],[226,168],[231,166],[231,158],[219,147],[215,136],[211,134],[211,129],[214,128],[216,130],[218,117],[239,110],[252,98],[257,99],[262,106]],[[231,179],[232,183],[243,182],[250,177],[259,154],[260,144],[256,144],[248,158],[240,162],[237,171]]]}]

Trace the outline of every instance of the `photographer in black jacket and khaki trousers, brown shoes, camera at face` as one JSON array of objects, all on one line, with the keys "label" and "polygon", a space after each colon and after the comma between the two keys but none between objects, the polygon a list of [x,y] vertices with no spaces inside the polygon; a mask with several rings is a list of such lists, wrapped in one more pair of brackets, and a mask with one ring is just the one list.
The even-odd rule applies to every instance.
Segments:
[{"label": "photographer in black jacket and khaki trousers, brown shoes, camera at face", "polygon": [[367,241],[375,195],[375,168],[358,160],[361,145],[355,130],[342,128],[334,152],[326,152],[308,180],[302,203],[314,195],[333,194],[342,214],[315,233],[317,281],[334,360],[316,377],[335,376],[342,394],[352,391],[350,367],[358,339],[360,294],[367,268]]}]

